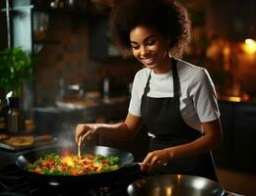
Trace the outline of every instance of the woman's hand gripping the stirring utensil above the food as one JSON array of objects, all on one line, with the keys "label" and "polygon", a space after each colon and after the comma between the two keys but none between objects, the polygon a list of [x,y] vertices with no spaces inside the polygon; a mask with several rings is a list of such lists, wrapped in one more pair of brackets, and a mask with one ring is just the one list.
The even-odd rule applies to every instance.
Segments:
[{"label": "woman's hand gripping the stirring utensil above the food", "polygon": [[79,143],[80,137],[82,137],[82,141],[83,141],[85,140],[86,135],[94,134],[98,129],[98,127],[99,127],[99,124],[97,123],[79,123],[76,127],[76,134],[75,134],[76,142]]}]

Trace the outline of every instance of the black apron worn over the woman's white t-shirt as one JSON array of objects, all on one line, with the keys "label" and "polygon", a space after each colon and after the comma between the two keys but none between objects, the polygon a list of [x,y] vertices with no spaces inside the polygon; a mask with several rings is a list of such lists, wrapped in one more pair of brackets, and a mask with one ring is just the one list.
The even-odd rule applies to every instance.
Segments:
[{"label": "black apron worn over the woman's white t-shirt", "polygon": [[[144,89],[141,104],[143,123],[150,133],[156,136],[151,138],[149,151],[185,144],[202,136],[200,131],[187,125],[181,117],[180,85],[176,64],[177,61],[172,58],[173,97],[147,96],[150,91],[151,73]],[[190,174],[218,180],[211,152],[196,157],[171,160],[162,167],[160,174]]]}]

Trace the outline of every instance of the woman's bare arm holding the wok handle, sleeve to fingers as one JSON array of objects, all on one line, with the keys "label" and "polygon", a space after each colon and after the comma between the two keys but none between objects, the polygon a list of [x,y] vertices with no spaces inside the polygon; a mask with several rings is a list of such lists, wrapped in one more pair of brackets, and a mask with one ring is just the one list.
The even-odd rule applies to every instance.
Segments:
[{"label": "woman's bare arm holding the wok handle, sleeve to fingers", "polygon": [[172,159],[193,157],[217,148],[223,139],[220,120],[202,123],[202,126],[205,134],[200,138],[186,144],[149,153],[142,163],[142,171],[151,172]]}]

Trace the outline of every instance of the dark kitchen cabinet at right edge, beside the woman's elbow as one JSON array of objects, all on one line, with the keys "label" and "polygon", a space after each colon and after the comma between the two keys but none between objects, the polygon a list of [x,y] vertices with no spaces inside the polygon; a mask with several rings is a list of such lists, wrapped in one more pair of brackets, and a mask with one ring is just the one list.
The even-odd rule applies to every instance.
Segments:
[{"label": "dark kitchen cabinet at right edge, beside the woman's elbow", "polygon": [[256,103],[220,102],[224,140],[214,151],[217,166],[256,173]]}]

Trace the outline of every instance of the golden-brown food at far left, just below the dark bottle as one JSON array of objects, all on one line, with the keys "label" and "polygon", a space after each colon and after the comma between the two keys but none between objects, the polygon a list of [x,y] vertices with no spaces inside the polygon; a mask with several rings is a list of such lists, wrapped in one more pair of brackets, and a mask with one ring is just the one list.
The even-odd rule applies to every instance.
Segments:
[{"label": "golden-brown food at far left, just below the dark bottle", "polygon": [[11,136],[5,143],[11,146],[30,146],[34,141],[32,135]]}]

